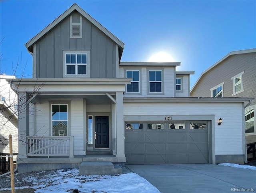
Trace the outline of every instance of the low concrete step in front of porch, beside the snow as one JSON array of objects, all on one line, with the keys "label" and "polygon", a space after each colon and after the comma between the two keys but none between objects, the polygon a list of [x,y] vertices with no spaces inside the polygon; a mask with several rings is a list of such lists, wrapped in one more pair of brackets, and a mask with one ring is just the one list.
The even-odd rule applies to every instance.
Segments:
[{"label": "low concrete step in front of porch, beside the snow", "polygon": [[79,166],[79,175],[113,175],[122,171],[122,167],[110,161],[84,161]]}]

